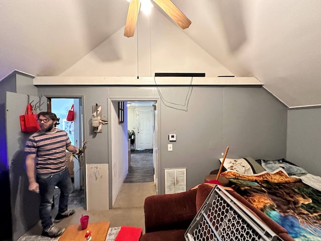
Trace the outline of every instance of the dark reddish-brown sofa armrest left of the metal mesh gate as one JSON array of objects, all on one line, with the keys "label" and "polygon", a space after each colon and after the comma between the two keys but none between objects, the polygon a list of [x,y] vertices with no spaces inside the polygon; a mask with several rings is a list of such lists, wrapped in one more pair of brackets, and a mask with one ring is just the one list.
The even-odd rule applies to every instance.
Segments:
[{"label": "dark reddish-brown sofa armrest left of the metal mesh gate", "polygon": [[187,229],[196,215],[197,190],[145,198],[145,232]]}]

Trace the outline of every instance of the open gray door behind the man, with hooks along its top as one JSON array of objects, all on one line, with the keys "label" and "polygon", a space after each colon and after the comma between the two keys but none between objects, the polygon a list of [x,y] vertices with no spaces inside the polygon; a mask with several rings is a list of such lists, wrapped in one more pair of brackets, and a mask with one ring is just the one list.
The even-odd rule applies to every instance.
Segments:
[{"label": "open gray door behind the man, with hooks along its top", "polygon": [[24,146],[31,133],[21,132],[19,119],[25,113],[28,101],[36,104],[36,112],[47,111],[46,98],[7,91],[6,137],[13,240],[17,240],[39,221],[39,194],[29,191],[25,169]]}]

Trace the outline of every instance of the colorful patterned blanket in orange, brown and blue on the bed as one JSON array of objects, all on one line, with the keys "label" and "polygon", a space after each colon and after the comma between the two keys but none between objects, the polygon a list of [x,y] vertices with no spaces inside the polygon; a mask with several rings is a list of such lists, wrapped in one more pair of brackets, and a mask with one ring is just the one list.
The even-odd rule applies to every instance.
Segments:
[{"label": "colorful patterned blanket in orange, brown and blue on the bed", "polygon": [[321,240],[321,192],[283,172],[242,175],[224,172],[231,187],[283,226],[297,241]]}]

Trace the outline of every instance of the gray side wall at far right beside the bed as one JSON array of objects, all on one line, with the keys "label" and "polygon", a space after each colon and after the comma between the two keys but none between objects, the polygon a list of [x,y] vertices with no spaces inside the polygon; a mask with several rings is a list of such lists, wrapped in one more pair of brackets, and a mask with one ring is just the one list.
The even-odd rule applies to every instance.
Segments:
[{"label": "gray side wall at far right beside the bed", "polygon": [[286,159],[321,175],[321,108],[288,110]]}]

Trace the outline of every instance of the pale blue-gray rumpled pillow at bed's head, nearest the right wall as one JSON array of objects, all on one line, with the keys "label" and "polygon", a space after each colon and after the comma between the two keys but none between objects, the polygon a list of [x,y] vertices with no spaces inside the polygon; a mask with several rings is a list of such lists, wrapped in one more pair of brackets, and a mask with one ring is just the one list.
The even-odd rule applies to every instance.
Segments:
[{"label": "pale blue-gray rumpled pillow at bed's head, nearest the right wall", "polygon": [[267,172],[273,172],[278,168],[283,168],[283,170],[288,174],[288,175],[295,175],[295,174],[302,174],[302,173],[307,173],[303,168],[286,161],[284,158],[278,159],[278,160],[263,160],[259,159],[256,160],[261,166],[267,171]]}]

